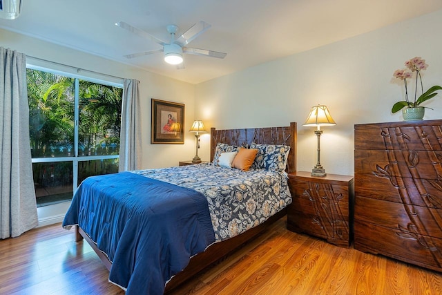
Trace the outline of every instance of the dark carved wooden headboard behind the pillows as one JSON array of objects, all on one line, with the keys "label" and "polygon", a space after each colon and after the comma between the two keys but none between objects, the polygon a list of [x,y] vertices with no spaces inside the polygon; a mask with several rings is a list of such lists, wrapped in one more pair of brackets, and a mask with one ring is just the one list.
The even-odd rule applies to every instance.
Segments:
[{"label": "dark carved wooden headboard behind the pillows", "polygon": [[290,126],[284,127],[225,130],[211,128],[210,160],[213,160],[215,148],[219,142],[237,146],[251,144],[252,142],[256,144],[285,144],[290,146],[286,171],[287,173],[296,172],[296,130],[296,122],[291,122]]}]

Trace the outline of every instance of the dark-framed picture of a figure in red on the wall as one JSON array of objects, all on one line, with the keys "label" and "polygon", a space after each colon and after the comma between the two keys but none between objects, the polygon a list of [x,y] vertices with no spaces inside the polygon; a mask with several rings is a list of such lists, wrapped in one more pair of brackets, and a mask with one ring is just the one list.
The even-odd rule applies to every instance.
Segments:
[{"label": "dark-framed picture of a figure in red on the wall", "polygon": [[184,104],[152,99],[151,144],[184,144]]}]

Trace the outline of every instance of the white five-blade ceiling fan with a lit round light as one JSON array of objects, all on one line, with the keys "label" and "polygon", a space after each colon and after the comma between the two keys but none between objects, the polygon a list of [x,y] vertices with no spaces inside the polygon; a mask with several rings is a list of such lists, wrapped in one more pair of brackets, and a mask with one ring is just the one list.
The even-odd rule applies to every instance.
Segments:
[{"label": "white five-blade ceiling fan with a lit round light", "polygon": [[124,28],[125,30],[128,30],[130,32],[133,32],[135,35],[138,35],[140,37],[146,38],[148,40],[154,41],[157,44],[160,44],[162,49],[156,49],[156,50],[148,50],[144,51],[142,53],[133,53],[130,55],[124,55],[124,57],[127,57],[128,59],[134,58],[134,57],[140,57],[143,55],[151,55],[152,53],[157,53],[160,51],[164,52],[164,61],[166,61],[168,64],[175,64],[179,65],[182,64],[183,53],[187,53],[190,55],[202,55],[207,57],[216,57],[223,59],[227,53],[218,53],[217,51],[213,50],[207,50],[207,49],[200,49],[200,48],[192,48],[187,47],[186,45],[191,43],[193,39],[200,36],[203,32],[205,32],[207,29],[211,27],[209,23],[206,23],[204,21],[198,21],[198,23],[195,23],[189,30],[186,30],[180,37],[175,38],[175,34],[178,31],[178,27],[175,25],[169,25],[166,26],[167,32],[171,35],[170,41],[163,41],[162,39],[159,39],[148,32],[145,32],[144,30],[140,30],[139,28],[135,28],[134,26],[129,25],[128,23],[125,23],[124,21],[119,21],[118,23],[115,23],[116,26],[119,26],[120,28]]}]

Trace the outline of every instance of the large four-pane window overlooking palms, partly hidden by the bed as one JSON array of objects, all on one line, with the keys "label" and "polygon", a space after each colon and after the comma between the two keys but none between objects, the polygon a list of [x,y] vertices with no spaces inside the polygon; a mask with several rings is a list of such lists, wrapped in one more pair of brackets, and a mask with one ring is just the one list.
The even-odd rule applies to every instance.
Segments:
[{"label": "large four-pane window overlooking palms, partly hidden by the bed", "polygon": [[37,207],[73,197],[91,175],[117,173],[122,86],[27,69]]}]

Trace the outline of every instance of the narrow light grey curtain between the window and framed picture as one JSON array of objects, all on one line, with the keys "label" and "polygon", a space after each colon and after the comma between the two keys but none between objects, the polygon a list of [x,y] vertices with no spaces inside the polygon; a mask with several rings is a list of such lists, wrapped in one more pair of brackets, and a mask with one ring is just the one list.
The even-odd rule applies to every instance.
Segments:
[{"label": "narrow light grey curtain between the window and framed picture", "polygon": [[119,171],[137,169],[140,164],[141,115],[138,81],[124,79],[122,128],[119,142]]}]

